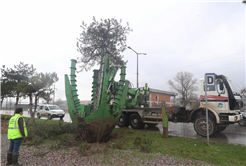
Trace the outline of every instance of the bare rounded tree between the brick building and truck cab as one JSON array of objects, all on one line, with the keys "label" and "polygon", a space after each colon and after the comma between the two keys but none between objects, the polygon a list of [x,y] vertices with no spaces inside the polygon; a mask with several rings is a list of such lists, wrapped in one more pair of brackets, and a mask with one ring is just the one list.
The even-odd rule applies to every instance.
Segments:
[{"label": "bare rounded tree between the brick building and truck cab", "polygon": [[185,104],[185,101],[196,97],[194,92],[198,90],[198,86],[196,86],[197,79],[194,79],[193,77],[194,75],[192,73],[178,72],[173,78],[175,82],[168,80],[168,85],[181,96],[183,104]]}]

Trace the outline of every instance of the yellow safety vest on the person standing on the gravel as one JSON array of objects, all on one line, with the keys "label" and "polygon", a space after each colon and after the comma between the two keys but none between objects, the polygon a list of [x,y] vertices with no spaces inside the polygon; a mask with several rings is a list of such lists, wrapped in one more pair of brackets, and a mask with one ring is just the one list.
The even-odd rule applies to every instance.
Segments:
[{"label": "yellow safety vest on the person standing on the gravel", "polygon": [[[23,115],[21,114],[15,114],[10,120],[9,120],[9,128],[8,128],[8,139],[17,139],[17,138],[22,138],[23,136],[21,135],[20,129],[19,129],[19,124],[18,120],[19,118],[22,117]],[[26,123],[23,118],[23,127],[24,127],[24,133],[25,137],[27,137],[27,129],[26,129]]]}]

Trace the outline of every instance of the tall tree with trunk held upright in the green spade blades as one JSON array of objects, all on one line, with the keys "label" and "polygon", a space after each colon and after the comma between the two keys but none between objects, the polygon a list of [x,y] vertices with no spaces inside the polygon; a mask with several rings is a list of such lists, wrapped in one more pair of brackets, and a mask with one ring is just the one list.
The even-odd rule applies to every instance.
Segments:
[{"label": "tall tree with trunk held upright in the green spade blades", "polygon": [[132,30],[128,23],[126,26],[122,26],[121,23],[121,20],[115,18],[97,21],[93,17],[93,22],[89,26],[84,21],[81,25],[82,33],[77,42],[78,51],[82,54],[82,57],[78,58],[81,71],[88,71],[94,65],[100,65],[94,112],[101,85],[103,56],[110,55],[112,66],[120,67],[126,63],[121,53],[127,49],[126,35]]}]

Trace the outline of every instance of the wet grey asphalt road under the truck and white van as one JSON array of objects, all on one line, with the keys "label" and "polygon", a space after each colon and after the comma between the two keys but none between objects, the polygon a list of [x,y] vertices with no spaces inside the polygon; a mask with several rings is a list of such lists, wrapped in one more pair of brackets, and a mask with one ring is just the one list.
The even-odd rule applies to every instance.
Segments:
[{"label": "wet grey asphalt road under the truck and white van", "polygon": [[[1,110],[0,114],[13,115],[14,111]],[[24,111],[23,116],[24,117],[30,117],[30,115],[28,114],[27,111]],[[41,119],[47,119],[47,118],[42,117]],[[53,118],[52,120],[59,121],[60,118]],[[68,113],[63,118],[63,121],[72,122]],[[160,124],[157,125],[156,127],[152,127],[152,128],[147,127],[147,125],[146,125],[146,128],[141,129],[141,130],[154,131],[154,132],[163,134],[163,128],[162,128],[162,125],[160,125]],[[172,123],[172,122],[169,122],[168,134],[169,135],[175,135],[175,136],[181,136],[181,137],[203,139],[203,140],[207,141],[206,137],[201,137],[200,135],[198,135],[195,132],[192,123]],[[239,126],[237,123],[234,125],[230,125],[221,133],[217,133],[213,137],[210,137],[209,141],[210,142],[220,141],[220,142],[225,142],[225,143],[229,143],[229,144],[238,144],[238,145],[246,146],[246,126]]]}]

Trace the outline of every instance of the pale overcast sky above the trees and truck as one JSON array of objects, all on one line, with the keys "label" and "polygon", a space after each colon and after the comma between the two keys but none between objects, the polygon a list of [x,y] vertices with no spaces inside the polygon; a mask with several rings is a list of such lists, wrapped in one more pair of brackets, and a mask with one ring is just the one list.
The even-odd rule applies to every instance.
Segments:
[{"label": "pale overcast sky above the trees and truck", "polygon": [[[133,29],[127,44],[139,55],[139,86],[170,91],[167,81],[187,71],[228,76],[245,87],[245,4],[239,1],[3,1],[0,0],[0,65],[20,62],[57,72],[56,99],[65,97],[64,75],[80,57],[82,21],[122,19]],[[136,86],[137,56],[126,50],[126,79]],[[94,69],[97,69],[95,66]],[[91,99],[92,70],[77,74],[80,100]],[[117,77],[119,78],[119,77]]]}]

